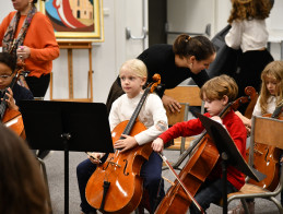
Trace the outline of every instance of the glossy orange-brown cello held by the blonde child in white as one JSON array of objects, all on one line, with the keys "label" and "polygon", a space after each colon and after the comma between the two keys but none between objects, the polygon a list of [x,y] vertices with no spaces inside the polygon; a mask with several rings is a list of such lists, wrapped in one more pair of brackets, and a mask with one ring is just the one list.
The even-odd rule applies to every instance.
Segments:
[{"label": "glossy orange-brown cello held by the blonde child in white", "polygon": [[[113,142],[122,139],[121,134],[135,135],[146,128],[137,121],[139,112],[150,92],[153,92],[161,83],[161,76],[153,76],[130,120],[120,122],[111,132]],[[142,199],[143,186],[140,170],[145,159],[152,153],[151,143],[135,146],[121,153],[116,150],[109,154],[106,162],[97,166],[87,181],[85,198],[90,205],[107,213],[131,213]]]}]

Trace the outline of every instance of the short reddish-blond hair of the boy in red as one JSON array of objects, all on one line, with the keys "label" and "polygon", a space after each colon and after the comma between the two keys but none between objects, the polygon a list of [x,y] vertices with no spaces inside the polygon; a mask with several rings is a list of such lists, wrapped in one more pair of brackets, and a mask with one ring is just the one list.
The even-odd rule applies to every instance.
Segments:
[{"label": "short reddish-blond hair of the boy in red", "polygon": [[204,83],[200,90],[200,97],[202,99],[203,94],[210,100],[222,99],[226,95],[228,102],[233,102],[238,95],[238,85],[233,78],[223,74]]}]

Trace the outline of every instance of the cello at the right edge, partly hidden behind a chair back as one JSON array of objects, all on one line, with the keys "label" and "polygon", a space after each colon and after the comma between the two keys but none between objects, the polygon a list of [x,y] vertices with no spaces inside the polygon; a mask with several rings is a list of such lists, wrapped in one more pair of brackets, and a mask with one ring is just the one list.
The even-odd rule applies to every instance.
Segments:
[{"label": "cello at the right edge, partly hidden behind a chair back", "polygon": [[[283,120],[282,116],[283,104],[278,106],[273,114],[263,115],[263,117],[271,117],[274,119]],[[255,142],[253,144],[253,159],[249,159],[249,148],[246,151],[246,162],[249,162],[250,165],[259,170],[260,173],[267,175],[267,178],[257,182],[253,179],[250,179],[248,182],[266,188],[270,191],[275,190],[279,183],[279,162],[281,150],[261,143]]]}]

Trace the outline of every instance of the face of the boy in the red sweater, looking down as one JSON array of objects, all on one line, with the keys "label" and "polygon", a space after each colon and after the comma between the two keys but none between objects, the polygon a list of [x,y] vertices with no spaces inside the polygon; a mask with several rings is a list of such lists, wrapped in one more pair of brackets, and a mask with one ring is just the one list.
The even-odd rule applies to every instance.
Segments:
[{"label": "face of the boy in the red sweater, looking down", "polygon": [[222,99],[209,99],[207,95],[203,94],[204,108],[211,116],[219,116],[220,112],[227,105],[227,96],[224,96]]}]

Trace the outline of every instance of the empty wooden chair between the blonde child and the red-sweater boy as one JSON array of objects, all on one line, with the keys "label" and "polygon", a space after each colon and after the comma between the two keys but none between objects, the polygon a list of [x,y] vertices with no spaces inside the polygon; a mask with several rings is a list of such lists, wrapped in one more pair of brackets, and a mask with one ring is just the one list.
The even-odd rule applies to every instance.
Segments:
[{"label": "empty wooden chair between the blonde child and the red-sweater boy", "polygon": [[[204,112],[202,100],[200,98],[200,88],[197,85],[182,85],[173,90],[166,90],[165,95],[175,98],[181,105],[180,112],[172,114],[166,109],[169,127],[177,122],[187,121],[190,106],[199,106],[201,107],[202,114]],[[180,151],[181,154],[189,147],[189,144],[193,139],[193,136],[175,139],[172,143],[173,145],[169,145],[166,150]]]}]

